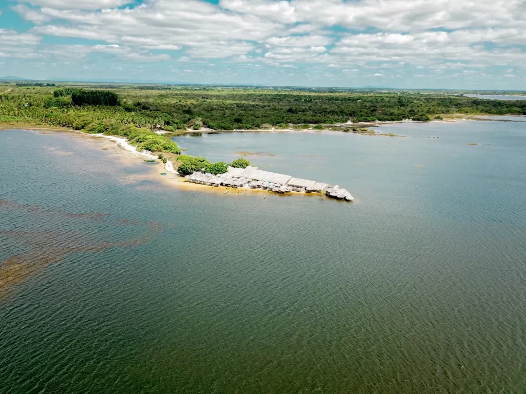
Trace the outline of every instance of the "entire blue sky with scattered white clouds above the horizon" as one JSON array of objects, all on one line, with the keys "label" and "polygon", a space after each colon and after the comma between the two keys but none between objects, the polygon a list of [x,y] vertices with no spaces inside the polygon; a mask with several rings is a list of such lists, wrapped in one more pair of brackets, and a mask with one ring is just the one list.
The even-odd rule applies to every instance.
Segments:
[{"label": "entire blue sky with scattered white clouds above the horizon", "polygon": [[526,0],[0,0],[0,76],[526,90]]}]

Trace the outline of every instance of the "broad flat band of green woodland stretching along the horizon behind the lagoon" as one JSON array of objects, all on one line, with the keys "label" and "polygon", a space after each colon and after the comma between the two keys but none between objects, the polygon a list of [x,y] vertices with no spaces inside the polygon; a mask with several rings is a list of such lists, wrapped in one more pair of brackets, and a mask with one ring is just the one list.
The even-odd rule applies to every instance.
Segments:
[{"label": "broad flat band of green woodland stretching along the horizon behind the lagoon", "polygon": [[[116,128],[215,130],[309,128],[363,121],[429,121],[443,115],[522,115],[526,100],[484,100],[415,91],[272,89],[62,84],[24,82],[0,95],[0,122],[31,123],[96,132]],[[31,85],[29,85],[31,84]],[[97,88],[94,90],[93,88]],[[104,90],[103,90],[104,89]],[[438,118],[439,119],[439,118]],[[322,126],[317,126],[320,129]],[[104,132],[104,131],[103,131]]]}]

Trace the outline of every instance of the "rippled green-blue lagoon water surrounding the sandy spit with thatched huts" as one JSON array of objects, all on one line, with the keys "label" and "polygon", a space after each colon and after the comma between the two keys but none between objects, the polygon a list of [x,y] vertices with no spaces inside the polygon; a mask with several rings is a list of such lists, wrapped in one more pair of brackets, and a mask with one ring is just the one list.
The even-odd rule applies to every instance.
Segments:
[{"label": "rippled green-blue lagoon water surrounding the sandy spit with thatched huts", "polygon": [[0,393],[525,392],[526,123],[381,131],[176,139],[355,203],[0,131]]}]

